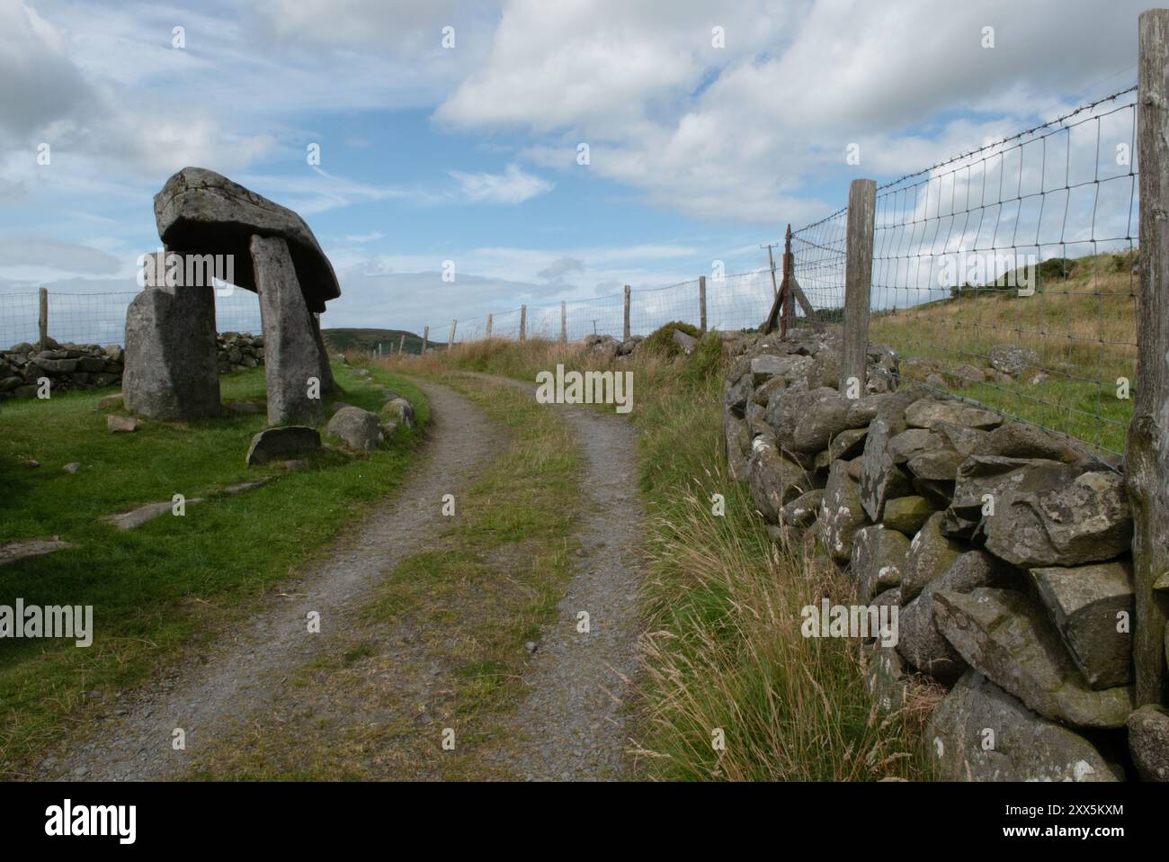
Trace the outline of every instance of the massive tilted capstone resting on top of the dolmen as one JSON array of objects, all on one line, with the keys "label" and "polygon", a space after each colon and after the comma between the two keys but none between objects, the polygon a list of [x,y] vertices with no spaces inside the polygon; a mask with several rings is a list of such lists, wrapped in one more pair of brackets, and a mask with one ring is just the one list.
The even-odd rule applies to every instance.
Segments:
[{"label": "massive tilted capstone resting on top of the dolmen", "polygon": [[202,167],[185,167],[154,195],[158,235],[180,253],[234,255],[234,283],[256,290],[251,236],[288,241],[310,311],[341,295],[337,274],[304,219],[288,207]]}]

